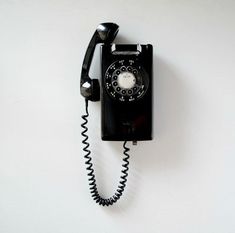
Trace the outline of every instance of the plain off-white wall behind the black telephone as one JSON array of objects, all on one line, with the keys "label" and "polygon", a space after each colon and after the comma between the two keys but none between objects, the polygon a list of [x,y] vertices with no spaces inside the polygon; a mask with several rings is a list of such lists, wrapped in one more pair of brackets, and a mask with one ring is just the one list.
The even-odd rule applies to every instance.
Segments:
[{"label": "plain off-white wall behind the black telephone", "polygon": [[[235,4],[200,0],[0,2],[0,232],[235,232]],[[131,146],[128,186],[90,197],[81,144],[81,63],[100,22],[154,46],[155,139]],[[94,71],[93,71],[94,73]],[[101,193],[121,143],[90,142]]]}]

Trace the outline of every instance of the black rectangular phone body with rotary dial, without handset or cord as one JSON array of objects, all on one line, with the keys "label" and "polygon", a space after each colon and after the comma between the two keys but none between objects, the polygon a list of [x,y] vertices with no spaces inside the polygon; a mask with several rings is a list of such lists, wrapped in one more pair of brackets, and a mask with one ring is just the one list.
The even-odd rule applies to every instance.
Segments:
[{"label": "black rectangular phone body with rotary dial, without handset or cord", "polygon": [[101,46],[101,137],[152,139],[152,45]]}]

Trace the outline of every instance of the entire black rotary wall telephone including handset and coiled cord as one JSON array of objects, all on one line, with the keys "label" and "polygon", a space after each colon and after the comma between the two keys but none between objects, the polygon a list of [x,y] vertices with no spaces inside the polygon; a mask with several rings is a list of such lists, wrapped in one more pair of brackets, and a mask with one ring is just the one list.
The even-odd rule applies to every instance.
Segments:
[{"label": "entire black rotary wall telephone including handset and coiled cord", "polygon": [[[127,141],[152,139],[152,45],[112,44],[118,28],[115,23],[102,23],[97,27],[84,57],[80,83],[86,106],[86,114],[82,116],[82,142],[90,191],[93,199],[103,206],[115,203],[126,186],[129,165]],[[92,57],[98,43],[103,43],[100,82],[89,77]],[[117,191],[110,198],[102,198],[97,190],[87,136],[88,101],[100,99],[102,140],[124,141],[124,169]]]}]

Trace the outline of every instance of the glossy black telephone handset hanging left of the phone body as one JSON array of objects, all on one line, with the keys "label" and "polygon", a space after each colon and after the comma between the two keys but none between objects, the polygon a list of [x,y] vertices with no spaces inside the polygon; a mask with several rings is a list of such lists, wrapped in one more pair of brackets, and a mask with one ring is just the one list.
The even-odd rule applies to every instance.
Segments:
[{"label": "glossy black telephone handset hanging left of the phone body", "polygon": [[98,79],[91,79],[89,77],[89,70],[95,47],[99,43],[112,43],[118,33],[118,28],[119,26],[115,23],[102,23],[97,27],[91,38],[83,60],[80,81],[81,95],[87,100],[100,100],[99,81]]}]

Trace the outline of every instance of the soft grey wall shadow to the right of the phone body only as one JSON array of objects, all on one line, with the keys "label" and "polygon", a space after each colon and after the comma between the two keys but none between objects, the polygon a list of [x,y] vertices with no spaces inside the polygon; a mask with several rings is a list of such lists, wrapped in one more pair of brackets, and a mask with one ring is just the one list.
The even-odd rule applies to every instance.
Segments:
[{"label": "soft grey wall shadow to the right of the phone body only", "polygon": [[184,76],[174,65],[154,57],[154,140],[140,142],[135,155],[147,171],[181,169],[189,98]]}]

